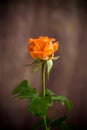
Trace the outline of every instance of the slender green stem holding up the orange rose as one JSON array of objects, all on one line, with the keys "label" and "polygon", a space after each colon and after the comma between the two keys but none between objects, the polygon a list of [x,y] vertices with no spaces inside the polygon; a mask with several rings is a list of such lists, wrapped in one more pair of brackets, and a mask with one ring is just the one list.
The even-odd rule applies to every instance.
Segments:
[{"label": "slender green stem holding up the orange rose", "polygon": [[[46,62],[43,62],[42,64],[42,96],[45,97],[45,71],[46,71]],[[44,126],[45,130],[48,130],[47,128],[47,122],[46,122],[46,115],[43,116]]]}]

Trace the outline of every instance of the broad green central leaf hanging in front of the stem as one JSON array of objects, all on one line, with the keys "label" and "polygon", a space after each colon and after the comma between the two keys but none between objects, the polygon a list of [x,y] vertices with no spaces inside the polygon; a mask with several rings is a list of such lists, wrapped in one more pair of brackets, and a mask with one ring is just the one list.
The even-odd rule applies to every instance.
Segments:
[{"label": "broad green central leaf hanging in front of the stem", "polygon": [[47,108],[52,105],[52,100],[50,97],[35,97],[30,100],[29,110],[35,115],[43,117]]}]

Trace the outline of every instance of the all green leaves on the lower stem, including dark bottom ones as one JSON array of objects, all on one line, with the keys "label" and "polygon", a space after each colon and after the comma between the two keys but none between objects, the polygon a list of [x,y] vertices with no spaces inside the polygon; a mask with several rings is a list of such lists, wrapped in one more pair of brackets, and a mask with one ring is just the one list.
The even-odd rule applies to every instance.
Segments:
[{"label": "all green leaves on the lower stem, including dark bottom ones", "polygon": [[[46,88],[45,96],[39,95],[36,88],[31,87],[27,80],[23,80],[13,91],[12,94],[18,98],[29,98],[29,110],[33,115],[43,118],[46,115],[48,107],[52,106],[54,101],[58,101],[63,106],[66,104],[68,109],[73,108],[73,104],[65,96],[55,95],[50,89]],[[73,130],[71,125],[66,123],[66,116],[61,117],[55,121],[47,119],[47,124],[51,128],[60,127],[61,130]],[[43,124],[39,120],[32,130],[38,129]],[[47,130],[50,130],[50,127]]]}]

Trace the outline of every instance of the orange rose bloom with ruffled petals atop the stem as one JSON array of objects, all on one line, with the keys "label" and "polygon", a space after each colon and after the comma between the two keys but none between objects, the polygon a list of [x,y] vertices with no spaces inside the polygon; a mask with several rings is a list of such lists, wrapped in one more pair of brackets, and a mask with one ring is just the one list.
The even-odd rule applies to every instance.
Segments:
[{"label": "orange rose bloom with ruffled petals atop the stem", "polygon": [[40,36],[37,39],[30,38],[28,50],[35,59],[48,60],[58,50],[59,42],[54,42],[54,38]]}]

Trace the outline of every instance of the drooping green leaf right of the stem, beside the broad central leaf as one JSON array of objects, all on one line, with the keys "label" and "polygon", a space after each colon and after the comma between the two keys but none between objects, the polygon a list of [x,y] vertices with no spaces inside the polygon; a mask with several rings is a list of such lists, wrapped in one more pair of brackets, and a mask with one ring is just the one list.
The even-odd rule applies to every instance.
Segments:
[{"label": "drooping green leaf right of the stem, beside the broad central leaf", "polygon": [[65,96],[52,95],[51,98],[53,101],[59,101],[63,106],[66,104],[69,110],[73,109],[73,104]]}]

